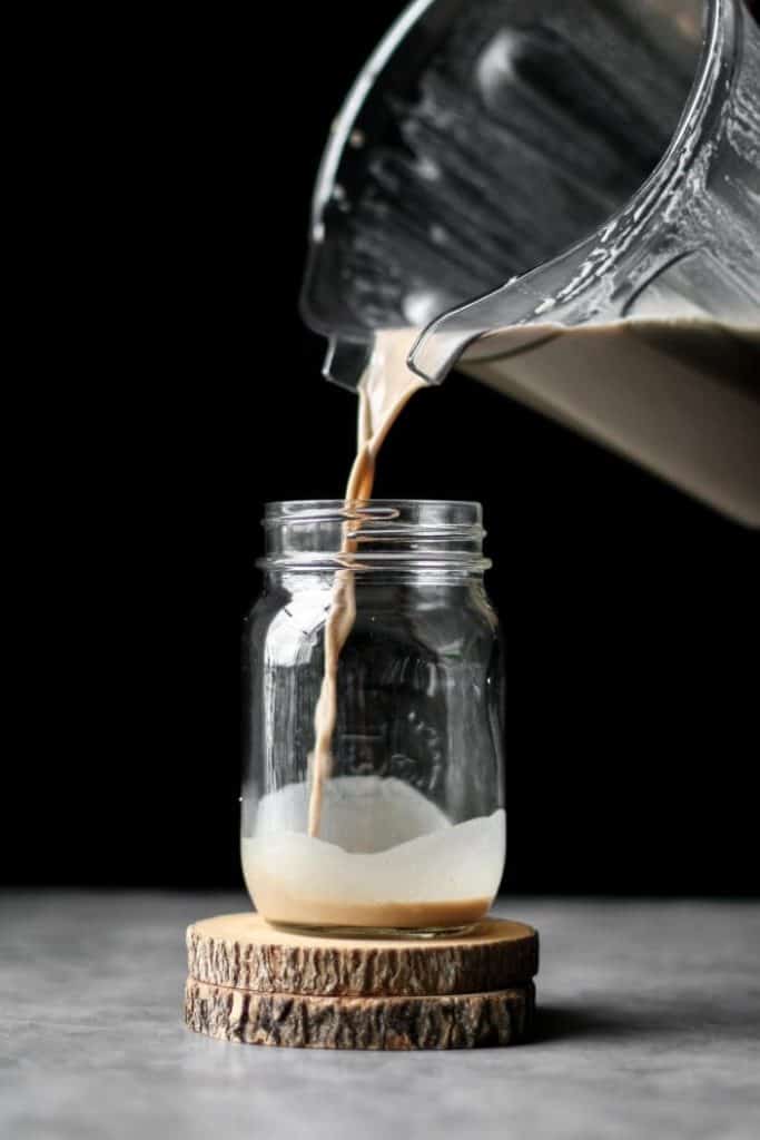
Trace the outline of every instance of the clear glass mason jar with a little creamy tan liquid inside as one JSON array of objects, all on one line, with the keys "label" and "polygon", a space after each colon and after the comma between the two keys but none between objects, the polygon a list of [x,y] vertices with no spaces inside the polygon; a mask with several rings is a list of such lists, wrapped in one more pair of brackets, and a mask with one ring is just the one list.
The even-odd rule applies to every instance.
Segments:
[{"label": "clear glass mason jar with a little creamy tan liquid inside", "polygon": [[[243,654],[254,905],[275,926],[325,934],[469,929],[498,890],[506,845],[504,673],[480,505],[270,503],[264,528]],[[340,601],[330,687],[326,628]],[[320,693],[335,717],[321,767]]]}]

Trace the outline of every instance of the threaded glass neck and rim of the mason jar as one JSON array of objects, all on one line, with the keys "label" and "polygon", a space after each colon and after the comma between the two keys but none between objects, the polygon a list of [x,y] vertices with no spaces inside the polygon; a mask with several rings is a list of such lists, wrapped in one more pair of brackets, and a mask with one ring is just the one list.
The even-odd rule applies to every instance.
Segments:
[{"label": "threaded glass neck and rim of the mason jar", "polygon": [[438,499],[303,499],[268,503],[265,570],[440,571],[480,575],[480,503]]}]

